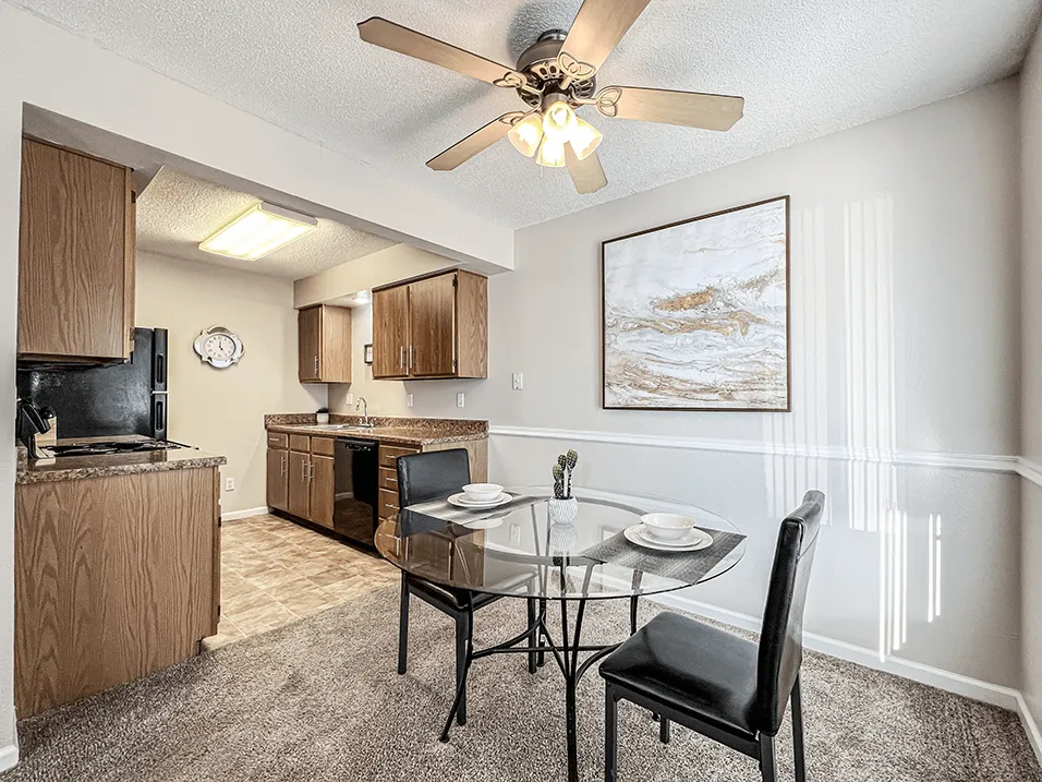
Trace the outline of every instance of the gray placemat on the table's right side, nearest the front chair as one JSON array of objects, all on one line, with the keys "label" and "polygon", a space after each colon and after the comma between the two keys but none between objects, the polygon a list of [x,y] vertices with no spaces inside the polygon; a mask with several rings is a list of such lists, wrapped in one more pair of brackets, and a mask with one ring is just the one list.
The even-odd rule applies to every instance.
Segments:
[{"label": "gray placemat on the table's right side, nearest the front chair", "polygon": [[730,554],[735,546],[746,540],[736,532],[699,527],[713,536],[713,544],[699,551],[656,551],[630,543],[621,532],[582,552],[582,556],[597,560],[606,565],[629,567],[651,573],[663,578],[673,578],[687,584],[698,584],[705,575]]}]

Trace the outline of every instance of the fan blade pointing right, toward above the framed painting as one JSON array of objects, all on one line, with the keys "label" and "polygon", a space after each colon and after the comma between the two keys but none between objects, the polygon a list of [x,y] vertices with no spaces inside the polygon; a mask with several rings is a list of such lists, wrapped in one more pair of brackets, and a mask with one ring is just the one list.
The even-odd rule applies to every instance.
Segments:
[{"label": "fan blade pointing right, toward above the framed painting", "polygon": [[704,130],[730,130],[741,119],[744,98],[649,87],[605,87],[587,101],[605,117],[665,122]]}]

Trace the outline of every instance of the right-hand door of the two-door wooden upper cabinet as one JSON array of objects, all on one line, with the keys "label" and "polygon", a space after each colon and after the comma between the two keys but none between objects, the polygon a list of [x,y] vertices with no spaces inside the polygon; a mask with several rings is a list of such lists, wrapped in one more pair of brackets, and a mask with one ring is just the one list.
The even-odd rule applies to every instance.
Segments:
[{"label": "right-hand door of the two-door wooden upper cabinet", "polygon": [[409,336],[412,376],[437,377],[455,373],[455,274],[409,285]]}]

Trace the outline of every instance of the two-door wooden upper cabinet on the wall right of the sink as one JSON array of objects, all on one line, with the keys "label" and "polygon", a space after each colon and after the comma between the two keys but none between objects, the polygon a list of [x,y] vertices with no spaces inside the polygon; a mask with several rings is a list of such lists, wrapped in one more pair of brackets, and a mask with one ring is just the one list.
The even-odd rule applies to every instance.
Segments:
[{"label": "two-door wooden upper cabinet on the wall right of the sink", "polygon": [[375,289],[373,377],[487,377],[487,284],[453,269]]}]

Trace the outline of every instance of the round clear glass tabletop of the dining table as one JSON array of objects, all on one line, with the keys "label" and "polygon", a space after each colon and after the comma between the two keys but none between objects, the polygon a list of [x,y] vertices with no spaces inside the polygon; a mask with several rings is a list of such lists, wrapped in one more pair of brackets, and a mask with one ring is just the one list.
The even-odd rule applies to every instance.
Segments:
[{"label": "round clear glass tabletop of the dining table", "polygon": [[[446,501],[413,505],[379,525],[376,548],[402,570],[435,584],[547,600],[682,589],[726,573],[746,553],[744,536],[732,524],[698,506],[577,489],[578,507],[560,508],[548,488],[507,492],[513,501],[492,510]],[[689,516],[712,544],[658,551],[628,540],[623,531],[649,513]]]}]

